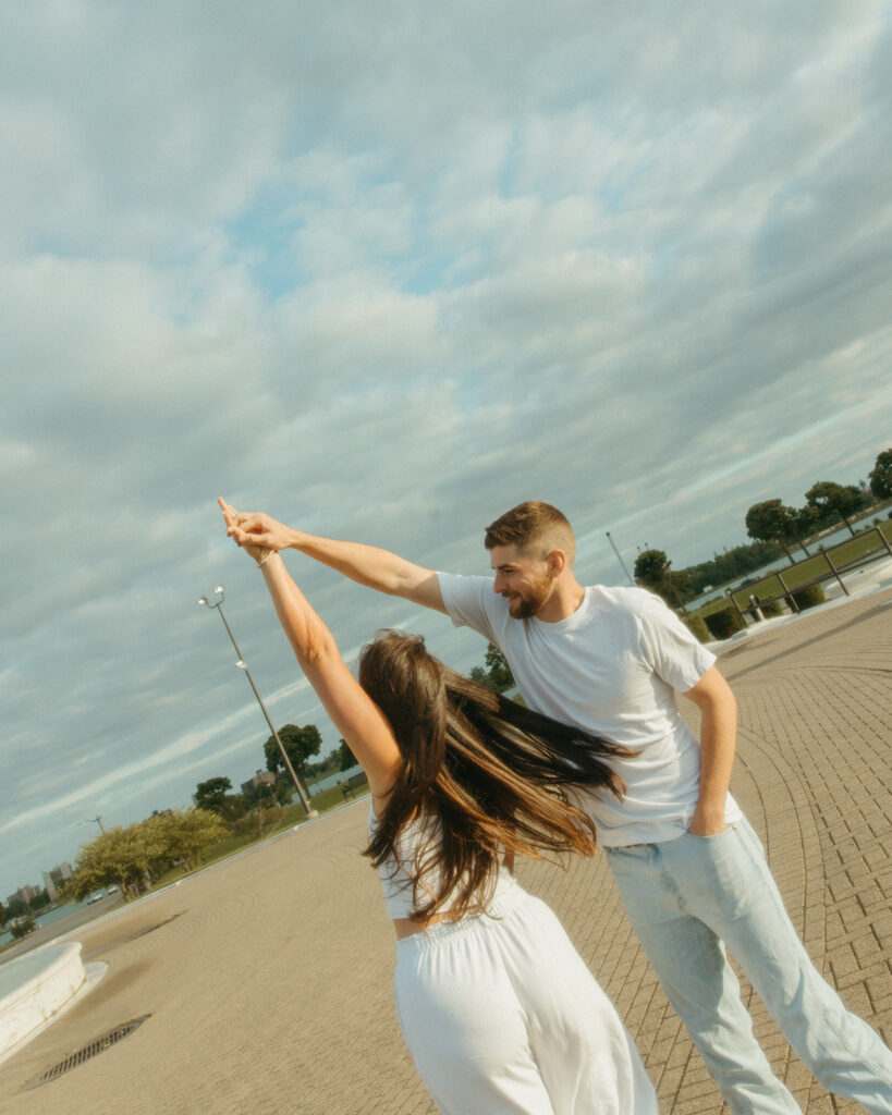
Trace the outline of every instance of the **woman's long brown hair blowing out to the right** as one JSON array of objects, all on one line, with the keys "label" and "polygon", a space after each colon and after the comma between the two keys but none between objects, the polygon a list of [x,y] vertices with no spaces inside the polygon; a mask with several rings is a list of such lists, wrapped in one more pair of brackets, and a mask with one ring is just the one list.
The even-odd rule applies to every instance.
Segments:
[{"label": "woman's long brown hair blowing out to the right", "polygon": [[379,632],[360,656],[359,681],[403,755],[366,855],[376,866],[395,856],[409,821],[430,834],[410,873],[414,920],[447,899],[456,917],[483,912],[506,851],[534,859],[593,854],[594,825],[566,789],[621,797],[624,784],[604,759],[636,753],[456,673],[428,653],[420,636]]}]

